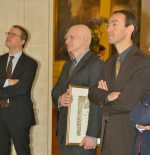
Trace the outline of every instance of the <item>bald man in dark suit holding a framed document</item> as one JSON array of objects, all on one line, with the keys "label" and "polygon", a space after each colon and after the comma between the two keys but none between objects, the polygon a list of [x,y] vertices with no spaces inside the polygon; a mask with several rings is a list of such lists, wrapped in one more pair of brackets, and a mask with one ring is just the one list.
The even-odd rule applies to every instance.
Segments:
[{"label": "bald man in dark suit holding a framed document", "polygon": [[[101,108],[90,106],[86,136],[80,146],[66,146],[67,107],[72,101],[68,93],[69,84],[92,86],[100,77],[103,62],[90,52],[91,31],[85,25],[74,25],[66,34],[66,46],[70,60],[62,69],[60,77],[52,90],[52,99],[58,110],[57,136],[61,155],[96,155],[97,137],[101,130]],[[70,73],[72,60],[76,59],[75,69]],[[82,146],[82,147],[81,147]]]}]

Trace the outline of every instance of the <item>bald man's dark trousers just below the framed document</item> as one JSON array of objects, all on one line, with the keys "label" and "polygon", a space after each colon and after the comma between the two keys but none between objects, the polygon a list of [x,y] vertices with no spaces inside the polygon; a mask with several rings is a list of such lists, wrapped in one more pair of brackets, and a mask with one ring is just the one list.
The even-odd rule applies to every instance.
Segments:
[{"label": "bald man's dark trousers just below the framed document", "polygon": [[60,155],[96,155],[96,149],[85,150],[80,146],[66,146],[61,143]]}]

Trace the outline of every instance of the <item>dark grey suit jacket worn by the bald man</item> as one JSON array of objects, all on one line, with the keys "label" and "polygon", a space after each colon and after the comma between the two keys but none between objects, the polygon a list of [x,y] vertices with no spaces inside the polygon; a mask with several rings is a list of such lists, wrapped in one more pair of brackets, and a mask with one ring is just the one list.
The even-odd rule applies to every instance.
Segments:
[{"label": "dark grey suit jacket worn by the bald man", "polygon": [[[62,69],[60,77],[52,90],[52,99],[58,109],[58,98],[68,89],[69,84],[92,86],[100,76],[103,62],[94,56],[91,52],[85,54],[69,77],[71,60],[67,61]],[[92,104],[90,107],[90,117],[87,129],[87,135],[99,137],[101,130],[101,109],[100,106]],[[66,137],[67,108],[59,109],[57,135],[59,141]]]}]

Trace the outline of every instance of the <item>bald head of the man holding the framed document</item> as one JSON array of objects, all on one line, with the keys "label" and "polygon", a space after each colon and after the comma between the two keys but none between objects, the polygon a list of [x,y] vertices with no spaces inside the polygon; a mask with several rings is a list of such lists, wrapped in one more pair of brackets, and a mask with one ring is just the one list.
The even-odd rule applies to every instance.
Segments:
[{"label": "bald head of the man holding the framed document", "polygon": [[74,25],[66,34],[66,45],[69,55],[75,57],[89,49],[91,30],[86,25]]}]

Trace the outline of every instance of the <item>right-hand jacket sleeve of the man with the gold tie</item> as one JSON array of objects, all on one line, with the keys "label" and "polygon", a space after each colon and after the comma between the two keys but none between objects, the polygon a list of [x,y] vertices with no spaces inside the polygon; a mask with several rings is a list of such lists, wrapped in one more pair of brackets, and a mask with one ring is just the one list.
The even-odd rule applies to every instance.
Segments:
[{"label": "right-hand jacket sleeve of the man with the gold tie", "polygon": [[108,114],[130,112],[143,97],[149,83],[150,63],[143,61],[130,75],[129,81],[121,91],[121,95],[116,100],[104,104],[103,110]]}]

